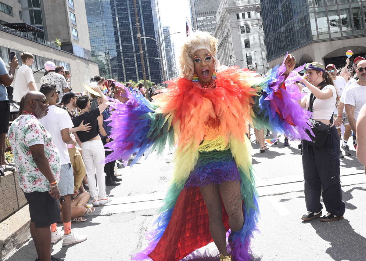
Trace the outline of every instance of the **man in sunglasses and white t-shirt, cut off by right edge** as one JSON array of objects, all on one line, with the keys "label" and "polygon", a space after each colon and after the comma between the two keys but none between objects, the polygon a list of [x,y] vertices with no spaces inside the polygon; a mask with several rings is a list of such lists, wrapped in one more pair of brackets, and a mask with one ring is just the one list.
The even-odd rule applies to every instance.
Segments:
[{"label": "man in sunglasses and white t-shirt, cut off by right edge", "polygon": [[[344,93],[344,109],[351,129],[356,133],[356,121],[358,114],[364,104],[366,104],[366,60],[361,60],[357,64],[359,79],[347,87]],[[342,95],[343,96],[343,95]],[[342,97],[343,98],[343,97]]]}]

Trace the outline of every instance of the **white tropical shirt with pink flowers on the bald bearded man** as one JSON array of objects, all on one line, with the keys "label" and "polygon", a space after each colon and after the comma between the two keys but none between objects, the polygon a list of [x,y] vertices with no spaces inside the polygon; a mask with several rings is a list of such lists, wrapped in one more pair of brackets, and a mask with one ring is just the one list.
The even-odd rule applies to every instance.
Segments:
[{"label": "white tropical shirt with pink flowers on the bald bearded man", "polygon": [[8,131],[10,147],[13,152],[15,166],[18,169],[19,185],[24,192],[49,191],[49,181],[37,168],[29,147],[44,144],[52,173],[57,182],[60,180],[60,154],[52,143],[52,136],[34,115],[20,115],[11,124]]}]

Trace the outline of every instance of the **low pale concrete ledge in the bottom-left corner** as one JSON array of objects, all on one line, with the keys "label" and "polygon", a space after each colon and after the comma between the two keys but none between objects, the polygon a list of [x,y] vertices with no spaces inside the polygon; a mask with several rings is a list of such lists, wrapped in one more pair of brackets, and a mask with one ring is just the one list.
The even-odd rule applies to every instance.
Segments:
[{"label": "low pale concrete ledge in the bottom-left corner", "polygon": [[30,239],[28,205],[0,223],[0,260],[19,249]]}]

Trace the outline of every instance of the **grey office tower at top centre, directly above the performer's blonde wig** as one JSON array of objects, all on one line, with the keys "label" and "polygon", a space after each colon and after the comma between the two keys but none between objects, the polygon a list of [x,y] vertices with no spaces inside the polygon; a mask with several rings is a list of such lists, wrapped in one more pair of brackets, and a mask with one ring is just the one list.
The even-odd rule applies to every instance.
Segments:
[{"label": "grey office tower at top centre, directly above the performer's blonde wig", "polygon": [[216,29],[216,12],[220,0],[190,0],[193,27],[195,30],[209,32],[212,36]]}]

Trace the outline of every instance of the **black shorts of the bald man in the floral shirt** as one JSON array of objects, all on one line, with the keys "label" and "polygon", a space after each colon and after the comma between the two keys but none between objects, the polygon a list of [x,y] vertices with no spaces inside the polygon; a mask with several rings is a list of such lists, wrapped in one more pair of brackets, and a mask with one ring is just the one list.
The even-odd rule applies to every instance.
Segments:
[{"label": "black shorts of the bald man in the floral shirt", "polygon": [[24,193],[29,203],[30,221],[36,228],[48,227],[61,220],[60,204],[57,199],[46,192]]}]

